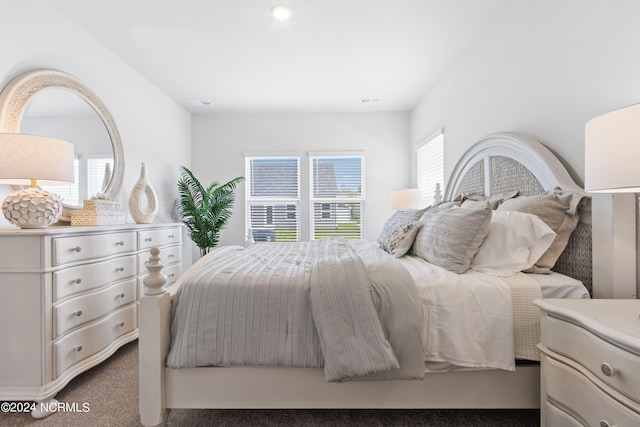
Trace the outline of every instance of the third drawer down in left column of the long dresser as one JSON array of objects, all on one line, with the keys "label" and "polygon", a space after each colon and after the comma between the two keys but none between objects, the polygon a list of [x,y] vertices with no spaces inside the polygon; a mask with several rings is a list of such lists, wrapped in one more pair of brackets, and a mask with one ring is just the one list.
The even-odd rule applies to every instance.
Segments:
[{"label": "third drawer down in left column of the long dresser", "polygon": [[117,283],[106,289],[68,299],[53,306],[54,336],[91,322],[110,311],[136,301],[136,280]]}]

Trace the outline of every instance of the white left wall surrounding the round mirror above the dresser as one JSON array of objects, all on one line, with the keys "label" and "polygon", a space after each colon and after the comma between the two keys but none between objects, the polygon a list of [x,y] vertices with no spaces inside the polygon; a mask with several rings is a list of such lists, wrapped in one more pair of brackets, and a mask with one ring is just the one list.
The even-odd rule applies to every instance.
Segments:
[{"label": "white left wall surrounding the round mirror above the dresser", "polygon": [[[170,221],[179,167],[191,160],[190,114],[47,2],[5,1],[1,13],[0,87],[37,68],[58,69],[81,80],[102,99],[122,137],[121,207],[126,208],[140,164],[146,162],[159,196],[156,222]],[[0,187],[4,199],[10,188]],[[0,224],[8,223],[1,218]]]}]

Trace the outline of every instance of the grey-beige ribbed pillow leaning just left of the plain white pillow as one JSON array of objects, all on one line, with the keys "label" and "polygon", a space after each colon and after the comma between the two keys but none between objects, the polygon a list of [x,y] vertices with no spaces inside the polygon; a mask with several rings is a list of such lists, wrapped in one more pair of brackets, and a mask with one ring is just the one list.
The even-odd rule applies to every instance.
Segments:
[{"label": "grey-beige ribbed pillow leaning just left of the plain white pillow", "polygon": [[431,208],[412,253],[454,273],[464,273],[489,231],[490,209]]}]

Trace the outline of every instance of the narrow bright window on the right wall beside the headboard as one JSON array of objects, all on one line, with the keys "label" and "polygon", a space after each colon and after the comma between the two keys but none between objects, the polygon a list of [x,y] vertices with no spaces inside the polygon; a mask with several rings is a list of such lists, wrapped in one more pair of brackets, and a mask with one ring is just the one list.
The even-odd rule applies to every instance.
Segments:
[{"label": "narrow bright window on the right wall beside the headboard", "polygon": [[430,205],[436,184],[444,192],[444,130],[425,139],[416,149],[418,157],[418,190],[422,201]]}]

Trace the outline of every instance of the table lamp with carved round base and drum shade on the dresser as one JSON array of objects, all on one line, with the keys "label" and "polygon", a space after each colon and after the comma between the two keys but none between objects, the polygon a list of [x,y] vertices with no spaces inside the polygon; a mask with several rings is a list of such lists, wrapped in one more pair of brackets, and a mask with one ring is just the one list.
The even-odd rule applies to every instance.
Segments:
[{"label": "table lamp with carved round base and drum shade on the dresser", "polygon": [[60,198],[41,184],[73,183],[73,144],[59,139],[0,133],[0,183],[29,185],[9,194],[5,218],[20,228],[47,228],[62,214]]}]

